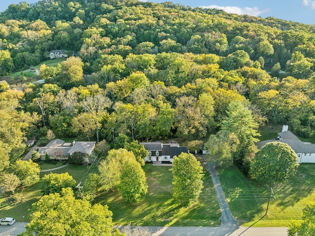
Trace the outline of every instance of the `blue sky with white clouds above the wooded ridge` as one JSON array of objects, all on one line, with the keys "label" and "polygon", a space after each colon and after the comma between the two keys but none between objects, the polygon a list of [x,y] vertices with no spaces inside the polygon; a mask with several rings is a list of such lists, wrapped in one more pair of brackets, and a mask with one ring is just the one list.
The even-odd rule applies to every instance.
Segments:
[{"label": "blue sky with white clouds above the wooded ridge", "polygon": [[[0,12],[10,4],[23,0],[0,0]],[[24,0],[29,4],[38,0]],[[105,0],[104,0],[105,1]],[[143,0],[152,1],[152,0]],[[153,0],[154,2],[172,1],[191,7],[222,9],[229,13],[261,16],[273,16],[287,21],[315,25],[315,0]]]}]

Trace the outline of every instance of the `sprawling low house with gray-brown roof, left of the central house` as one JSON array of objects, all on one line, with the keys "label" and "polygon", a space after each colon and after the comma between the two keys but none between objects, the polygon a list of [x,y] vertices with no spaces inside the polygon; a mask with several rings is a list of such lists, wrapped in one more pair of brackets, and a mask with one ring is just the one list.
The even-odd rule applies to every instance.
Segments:
[{"label": "sprawling low house with gray-brown roof, left of the central house", "polygon": [[96,142],[76,142],[72,141],[70,143],[64,142],[62,139],[54,139],[50,141],[46,146],[40,147],[38,152],[42,160],[45,160],[46,153],[49,155],[49,158],[56,153],[62,152],[62,160],[67,160],[69,156],[74,152],[82,152],[87,155],[91,155]]}]

